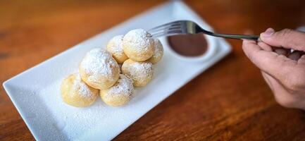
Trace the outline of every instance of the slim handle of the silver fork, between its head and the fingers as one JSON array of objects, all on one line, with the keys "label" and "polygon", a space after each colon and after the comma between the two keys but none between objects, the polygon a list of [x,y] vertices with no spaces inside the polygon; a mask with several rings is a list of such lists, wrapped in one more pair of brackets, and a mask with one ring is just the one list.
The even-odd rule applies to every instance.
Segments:
[{"label": "slim handle of the silver fork, between its head and the fingers", "polygon": [[251,40],[258,40],[258,35],[228,35],[228,34],[218,34],[214,32],[206,32],[205,34],[215,36],[215,37],[225,37],[229,39],[251,39]]}]

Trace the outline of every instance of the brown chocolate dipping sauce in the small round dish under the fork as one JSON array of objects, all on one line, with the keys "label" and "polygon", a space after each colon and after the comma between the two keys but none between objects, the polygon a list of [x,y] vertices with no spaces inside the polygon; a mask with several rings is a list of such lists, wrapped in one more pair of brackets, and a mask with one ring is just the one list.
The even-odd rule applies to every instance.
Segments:
[{"label": "brown chocolate dipping sauce in the small round dish under the fork", "polygon": [[204,35],[175,35],[168,37],[168,44],[182,56],[201,56],[208,48]]}]

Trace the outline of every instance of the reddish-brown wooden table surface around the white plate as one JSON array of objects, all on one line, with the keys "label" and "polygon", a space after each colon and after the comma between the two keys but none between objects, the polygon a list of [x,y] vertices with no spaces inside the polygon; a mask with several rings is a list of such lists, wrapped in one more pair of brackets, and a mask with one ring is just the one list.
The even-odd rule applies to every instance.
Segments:
[{"label": "reddish-brown wooden table surface around the white plate", "polygon": [[[0,82],[162,1],[0,1]],[[305,25],[305,1],[187,1],[216,31],[259,34]],[[259,70],[232,54],[115,140],[305,140],[305,113],[278,105]],[[3,87],[0,140],[34,140]]]}]

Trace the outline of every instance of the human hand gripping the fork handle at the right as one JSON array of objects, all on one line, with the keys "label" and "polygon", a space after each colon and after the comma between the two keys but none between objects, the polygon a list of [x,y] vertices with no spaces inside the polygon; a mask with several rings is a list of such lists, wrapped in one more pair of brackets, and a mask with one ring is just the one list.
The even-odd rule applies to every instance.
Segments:
[{"label": "human hand gripping the fork handle at the right", "polygon": [[268,28],[259,42],[244,40],[242,49],[261,69],[279,104],[305,110],[305,32]]}]

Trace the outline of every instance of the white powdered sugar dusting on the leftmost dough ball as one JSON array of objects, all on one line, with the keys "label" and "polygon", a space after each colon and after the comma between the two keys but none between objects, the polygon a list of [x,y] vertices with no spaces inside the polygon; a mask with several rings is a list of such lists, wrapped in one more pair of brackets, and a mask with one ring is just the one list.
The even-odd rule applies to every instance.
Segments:
[{"label": "white powdered sugar dusting on the leftmost dough ball", "polygon": [[75,74],[72,89],[74,92],[77,92],[77,94],[80,94],[80,96],[85,99],[95,98],[95,94],[89,89],[89,86],[81,80],[79,73]]}]

